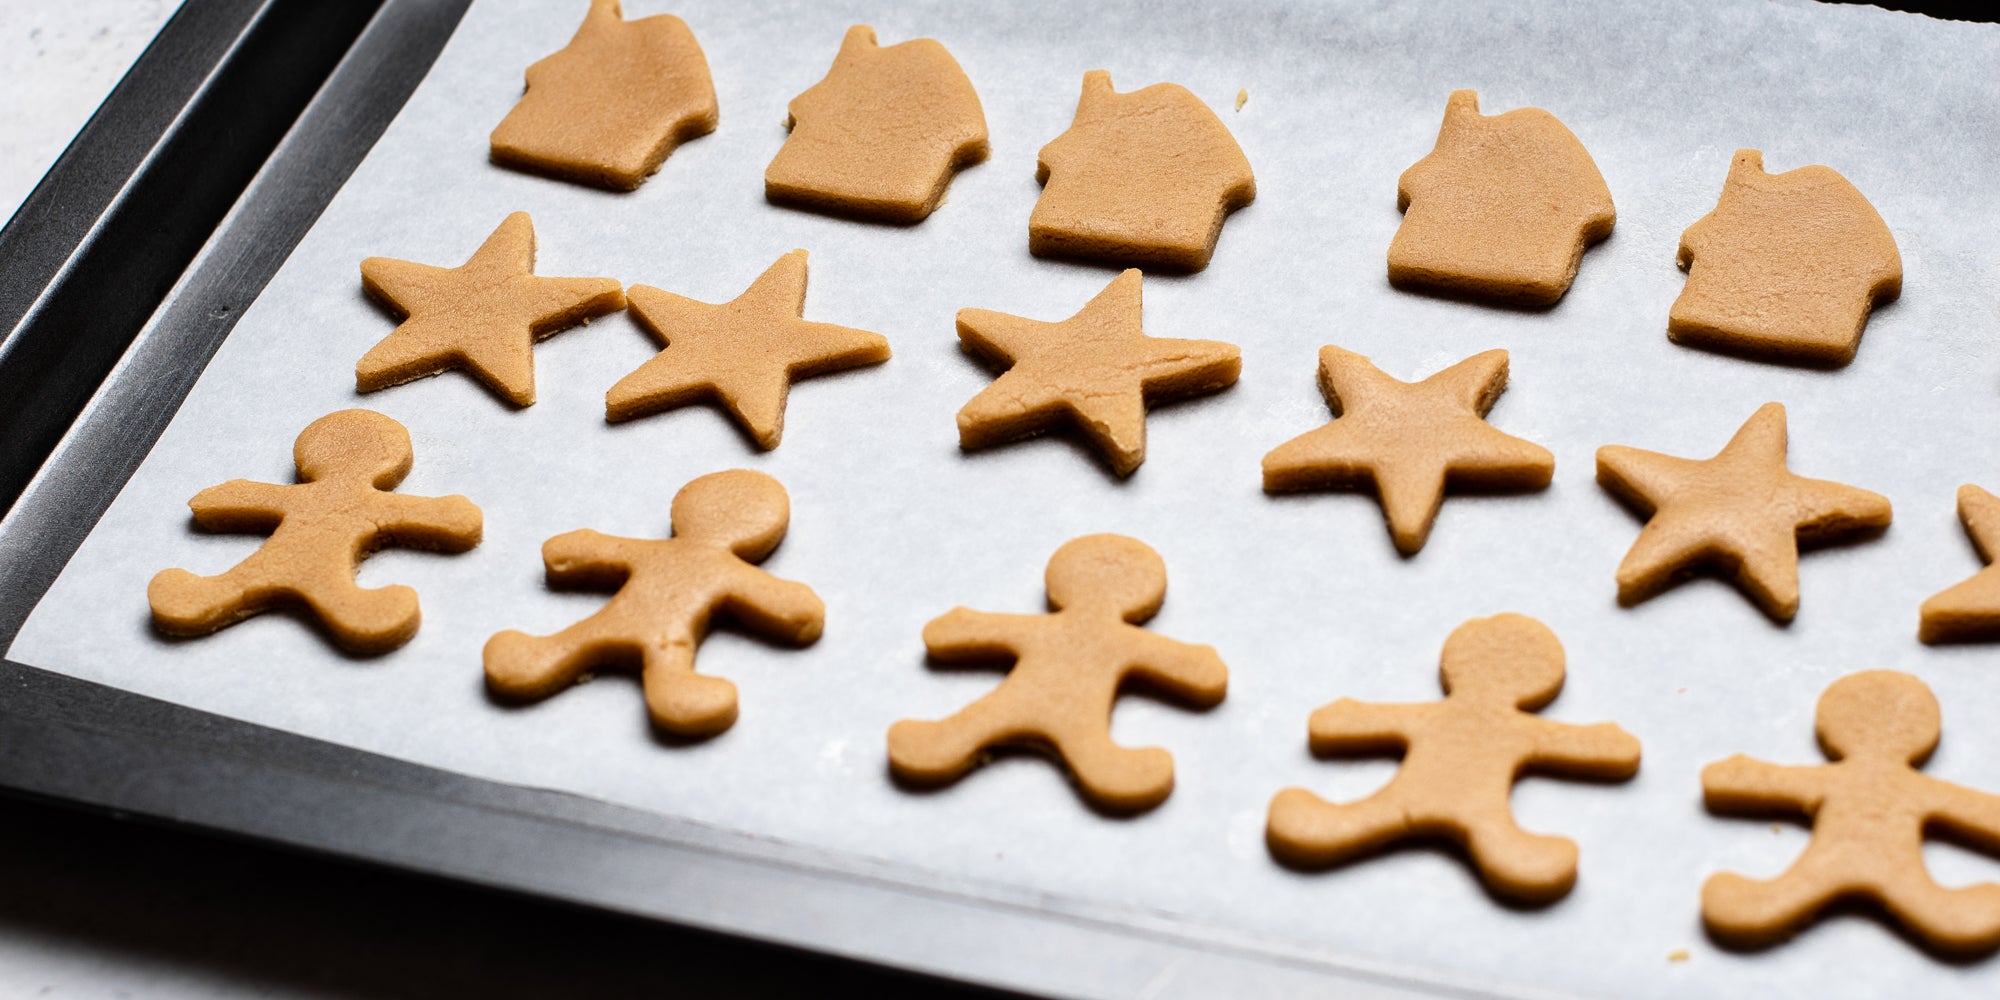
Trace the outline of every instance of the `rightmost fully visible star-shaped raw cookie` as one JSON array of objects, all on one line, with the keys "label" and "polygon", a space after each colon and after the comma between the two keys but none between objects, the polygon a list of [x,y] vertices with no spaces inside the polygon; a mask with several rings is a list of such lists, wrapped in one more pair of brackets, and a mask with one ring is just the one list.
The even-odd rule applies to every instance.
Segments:
[{"label": "rightmost fully visible star-shaped raw cookie", "polygon": [[1608,444],[1598,448],[1598,484],[1648,514],[1618,564],[1618,602],[1638,604],[1682,570],[1718,568],[1736,578],[1764,614],[1798,614],[1798,542],[1832,540],[1888,526],[1888,498],[1784,466],[1784,406],[1766,402],[1708,460]]}]

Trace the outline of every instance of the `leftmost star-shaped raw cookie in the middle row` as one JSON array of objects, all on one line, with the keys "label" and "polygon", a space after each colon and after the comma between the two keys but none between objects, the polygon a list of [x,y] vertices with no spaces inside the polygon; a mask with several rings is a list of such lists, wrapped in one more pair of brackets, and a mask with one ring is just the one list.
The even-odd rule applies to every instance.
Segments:
[{"label": "leftmost star-shaped raw cookie in the middle row", "polygon": [[362,260],[362,288],[402,322],[354,366],[358,390],[464,368],[514,406],[534,404],[536,340],[624,308],[610,278],[536,278],[528,212],[506,216],[456,268]]}]

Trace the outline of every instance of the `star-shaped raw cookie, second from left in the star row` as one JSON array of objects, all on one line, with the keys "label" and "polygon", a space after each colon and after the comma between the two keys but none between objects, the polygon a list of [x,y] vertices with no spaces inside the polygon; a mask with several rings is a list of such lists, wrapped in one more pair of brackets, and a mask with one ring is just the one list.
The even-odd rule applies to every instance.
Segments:
[{"label": "star-shaped raw cookie, second from left in the star row", "polygon": [[770,450],[784,434],[792,382],[888,360],[882,334],[806,322],[806,252],[778,258],[722,304],[634,284],[632,316],[664,344],[604,394],[606,420],[632,420],[690,402],[718,402]]}]

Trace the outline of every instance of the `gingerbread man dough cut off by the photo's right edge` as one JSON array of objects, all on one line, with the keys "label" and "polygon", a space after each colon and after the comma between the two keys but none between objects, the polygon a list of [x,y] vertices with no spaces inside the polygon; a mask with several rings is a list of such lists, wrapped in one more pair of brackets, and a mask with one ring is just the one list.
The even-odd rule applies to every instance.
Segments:
[{"label": "gingerbread man dough cut off by the photo's right edge", "polygon": [[1924,836],[1948,834],[2000,856],[2000,796],[1916,768],[1942,732],[1922,680],[1866,670],[1820,696],[1814,728],[1832,764],[1778,766],[1736,754],[1702,768],[1712,812],[1796,816],[1812,842],[1778,878],[1734,872],[1702,886],[1702,922],[1718,940],[1762,948],[1790,938],[1834,900],[1872,900],[1940,952],[2000,948],[2000,884],[1944,888],[1924,868]]}]

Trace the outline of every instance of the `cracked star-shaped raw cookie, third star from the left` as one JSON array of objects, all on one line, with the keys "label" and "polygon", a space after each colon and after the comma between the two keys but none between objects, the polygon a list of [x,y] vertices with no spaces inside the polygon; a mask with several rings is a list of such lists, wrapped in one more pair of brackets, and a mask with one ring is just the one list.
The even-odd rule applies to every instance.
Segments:
[{"label": "cracked star-shaped raw cookie, third star from the left", "polygon": [[958,340],[994,384],[958,410],[958,446],[984,448],[1070,422],[1130,476],[1146,460],[1146,404],[1232,386],[1236,344],[1140,330],[1140,272],[1128,270],[1062,322],[958,310]]}]

